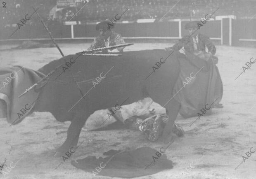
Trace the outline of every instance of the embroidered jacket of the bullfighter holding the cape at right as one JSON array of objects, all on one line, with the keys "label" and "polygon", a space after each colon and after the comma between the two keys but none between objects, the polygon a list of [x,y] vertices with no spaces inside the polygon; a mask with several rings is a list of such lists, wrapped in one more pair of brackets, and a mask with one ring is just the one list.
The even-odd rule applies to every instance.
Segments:
[{"label": "embroidered jacket of the bullfighter holding the cape at right", "polygon": [[[197,51],[201,50],[205,52],[205,47],[207,47],[208,51],[211,52],[213,55],[216,53],[216,48],[213,42],[211,42],[211,40],[209,39],[209,37],[202,35],[200,33],[198,34],[197,37],[198,37]],[[188,51],[190,53],[195,52],[193,38],[190,37],[190,35],[186,35],[182,37],[182,39],[180,39],[179,42],[177,42],[175,45],[170,47],[170,49],[179,51],[183,46],[185,51]]]}]

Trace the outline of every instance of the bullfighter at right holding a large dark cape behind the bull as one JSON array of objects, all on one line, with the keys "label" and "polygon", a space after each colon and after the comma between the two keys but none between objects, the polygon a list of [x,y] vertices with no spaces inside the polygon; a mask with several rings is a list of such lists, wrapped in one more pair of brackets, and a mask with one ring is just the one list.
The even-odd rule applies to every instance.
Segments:
[{"label": "bullfighter at right holding a large dark cape behind the bull", "polygon": [[182,81],[189,75],[187,72],[198,72],[197,79],[192,80],[189,87],[185,87],[175,96],[181,103],[180,114],[185,118],[196,116],[206,104],[214,102],[212,107],[223,107],[219,103],[223,95],[223,84],[216,66],[218,58],[214,56],[216,47],[209,37],[199,33],[199,24],[199,21],[187,23],[185,29],[189,31],[189,35],[185,35],[172,47],[166,48],[170,51],[179,51],[184,47],[185,51],[185,55],[179,54],[181,74],[175,91],[182,88]]}]

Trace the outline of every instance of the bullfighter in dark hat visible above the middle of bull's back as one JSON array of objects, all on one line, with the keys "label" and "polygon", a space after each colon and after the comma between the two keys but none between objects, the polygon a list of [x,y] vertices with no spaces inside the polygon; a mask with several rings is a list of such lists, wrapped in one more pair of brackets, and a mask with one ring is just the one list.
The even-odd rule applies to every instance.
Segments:
[{"label": "bullfighter in dark hat visible above the middle of bull's back", "polygon": [[[103,21],[97,24],[96,30],[99,30],[100,35],[94,39],[91,46],[87,50],[125,44],[121,35],[111,30],[114,26],[110,26],[109,24],[109,21]],[[124,48],[125,47],[119,47],[117,49],[108,49],[104,52],[122,52]]]}]

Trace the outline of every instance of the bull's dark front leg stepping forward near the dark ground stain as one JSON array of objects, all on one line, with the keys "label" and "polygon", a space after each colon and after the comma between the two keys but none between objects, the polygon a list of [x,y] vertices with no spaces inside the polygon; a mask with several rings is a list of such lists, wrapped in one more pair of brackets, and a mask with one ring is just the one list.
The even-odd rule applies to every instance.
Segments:
[{"label": "bull's dark front leg stepping forward near the dark ground stain", "polygon": [[88,117],[89,116],[75,116],[69,126],[67,138],[62,146],[60,146],[55,152],[55,157],[63,156],[63,154],[69,151],[71,147],[76,147],[81,129],[83,128]]}]

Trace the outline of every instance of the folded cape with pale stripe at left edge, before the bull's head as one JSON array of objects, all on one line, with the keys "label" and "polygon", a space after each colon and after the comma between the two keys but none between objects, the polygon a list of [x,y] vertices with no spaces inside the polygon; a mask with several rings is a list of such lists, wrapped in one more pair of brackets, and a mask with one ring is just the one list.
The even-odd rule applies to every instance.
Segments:
[{"label": "folded cape with pale stripe at left edge, before the bull's head", "polygon": [[1,69],[0,81],[3,86],[0,89],[0,118],[6,118],[8,123],[17,124],[30,114],[39,91],[33,90],[21,98],[19,95],[44,76],[40,72],[22,69],[20,66]]}]

